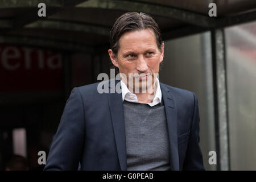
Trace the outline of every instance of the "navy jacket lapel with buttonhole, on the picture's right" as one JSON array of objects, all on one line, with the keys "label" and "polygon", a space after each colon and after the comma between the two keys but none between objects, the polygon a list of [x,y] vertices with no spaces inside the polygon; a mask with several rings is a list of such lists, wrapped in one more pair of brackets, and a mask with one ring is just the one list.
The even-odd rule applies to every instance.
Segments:
[{"label": "navy jacket lapel with buttonhole, on the picture's right", "polygon": [[169,142],[170,142],[170,165],[171,170],[179,170],[179,152],[177,145],[177,107],[174,97],[166,85],[160,82],[162,98],[164,101],[164,109],[166,111],[166,119],[168,125]]}]

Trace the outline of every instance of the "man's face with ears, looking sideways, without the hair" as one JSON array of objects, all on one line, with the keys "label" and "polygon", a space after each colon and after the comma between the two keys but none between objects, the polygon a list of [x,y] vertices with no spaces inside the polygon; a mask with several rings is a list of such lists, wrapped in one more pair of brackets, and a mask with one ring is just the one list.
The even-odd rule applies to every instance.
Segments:
[{"label": "man's face with ears, looking sideways, without the hair", "polygon": [[[142,82],[147,82],[151,76],[152,82],[147,86],[154,84],[154,74],[159,72],[159,64],[163,61],[163,50],[164,44],[160,51],[158,49],[154,31],[146,29],[123,34],[119,39],[117,55],[109,49],[109,56],[115,67],[119,68],[119,72],[125,74],[127,80],[122,80],[129,83],[129,78],[129,81],[133,80],[133,86],[139,86],[141,89]],[[134,85],[135,82],[139,82],[139,85]]]}]

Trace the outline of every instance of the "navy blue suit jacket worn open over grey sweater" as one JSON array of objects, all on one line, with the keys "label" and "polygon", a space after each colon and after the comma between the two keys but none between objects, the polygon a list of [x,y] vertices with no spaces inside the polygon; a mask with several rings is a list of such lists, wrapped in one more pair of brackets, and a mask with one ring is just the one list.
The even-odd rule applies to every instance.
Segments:
[{"label": "navy blue suit jacket worn open over grey sweater", "polygon": [[[81,170],[127,170],[122,94],[100,94],[97,85],[72,90],[44,170],[77,170],[79,162]],[[204,170],[195,94],[161,82],[160,88],[171,170]]]}]

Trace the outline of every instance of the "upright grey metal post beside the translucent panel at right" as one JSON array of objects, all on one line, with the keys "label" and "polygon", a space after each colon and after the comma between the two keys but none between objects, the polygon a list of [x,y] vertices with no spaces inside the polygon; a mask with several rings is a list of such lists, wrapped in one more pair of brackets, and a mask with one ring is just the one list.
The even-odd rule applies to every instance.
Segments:
[{"label": "upright grey metal post beside the translucent panel at right", "polygon": [[228,97],[224,30],[211,31],[217,170],[229,170]]}]

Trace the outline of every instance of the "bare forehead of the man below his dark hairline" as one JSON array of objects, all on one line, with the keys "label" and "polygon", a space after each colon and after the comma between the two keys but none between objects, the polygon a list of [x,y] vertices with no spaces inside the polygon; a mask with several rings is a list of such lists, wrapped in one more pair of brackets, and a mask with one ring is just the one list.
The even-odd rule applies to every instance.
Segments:
[{"label": "bare forehead of the man below his dark hairline", "polygon": [[119,48],[135,48],[138,46],[157,47],[154,31],[145,30],[125,32],[119,39]]}]

